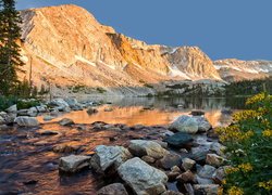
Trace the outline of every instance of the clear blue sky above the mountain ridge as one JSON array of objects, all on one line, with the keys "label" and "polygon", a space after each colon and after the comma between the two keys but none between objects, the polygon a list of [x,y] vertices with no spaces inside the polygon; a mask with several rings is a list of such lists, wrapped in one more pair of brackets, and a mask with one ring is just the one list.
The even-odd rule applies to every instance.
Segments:
[{"label": "clear blue sky above the mountain ridge", "polygon": [[272,60],[271,0],[17,0],[17,8],[67,3],[147,43],[198,46],[213,60]]}]

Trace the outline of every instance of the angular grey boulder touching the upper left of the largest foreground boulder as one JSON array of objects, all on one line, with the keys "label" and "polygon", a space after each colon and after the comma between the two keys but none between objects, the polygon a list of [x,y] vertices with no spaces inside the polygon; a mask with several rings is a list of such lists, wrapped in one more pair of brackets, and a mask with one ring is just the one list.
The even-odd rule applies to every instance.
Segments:
[{"label": "angular grey boulder touching the upper left of the largest foreground boulder", "polygon": [[98,145],[95,152],[90,165],[99,173],[104,173],[110,168],[116,170],[121,164],[132,158],[132,154],[122,146]]}]

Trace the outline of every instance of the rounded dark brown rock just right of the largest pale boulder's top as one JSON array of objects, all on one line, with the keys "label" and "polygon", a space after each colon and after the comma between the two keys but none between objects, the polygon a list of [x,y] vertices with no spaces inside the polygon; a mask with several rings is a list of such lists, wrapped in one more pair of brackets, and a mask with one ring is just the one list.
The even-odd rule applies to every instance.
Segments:
[{"label": "rounded dark brown rock just right of the largest pale boulder's top", "polygon": [[171,169],[174,166],[180,166],[182,164],[182,158],[180,155],[170,153],[159,160],[160,167],[163,169]]}]

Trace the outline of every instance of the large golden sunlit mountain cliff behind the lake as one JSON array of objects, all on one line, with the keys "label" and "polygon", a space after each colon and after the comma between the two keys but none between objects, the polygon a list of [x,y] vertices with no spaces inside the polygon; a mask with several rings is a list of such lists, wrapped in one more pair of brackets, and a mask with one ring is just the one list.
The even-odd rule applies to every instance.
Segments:
[{"label": "large golden sunlit mountain cliff behind the lake", "polygon": [[[146,83],[214,79],[212,61],[195,47],[149,46],[103,26],[83,8],[32,9],[23,17],[22,54],[34,84],[106,88],[112,93],[150,93]],[[101,92],[101,91],[100,91]],[[62,92],[61,92],[62,93]]]}]

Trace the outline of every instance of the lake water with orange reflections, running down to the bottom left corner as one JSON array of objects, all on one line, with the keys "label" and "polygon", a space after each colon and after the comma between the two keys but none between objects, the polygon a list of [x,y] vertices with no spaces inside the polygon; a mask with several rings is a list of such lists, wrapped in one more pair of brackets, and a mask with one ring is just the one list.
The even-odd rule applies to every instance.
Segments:
[{"label": "lake water with orange reflections, running down to the bottom left corner", "polygon": [[[133,138],[146,138],[137,131],[114,132],[94,131],[90,123],[169,125],[177,116],[189,114],[193,109],[202,109],[213,127],[231,121],[231,112],[244,108],[243,99],[110,99],[98,106],[98,113],[88,115],[86,110],[72,112],[58,116],[52,121],[42,122],[40,128],[11,128],[0,132],[0,194],[95,194],[108,181],[99,179],[90,170],[74,176],[59,174],[59,158],[67,154],[54,153],[53,147],[66,144],[78,146],[75,154],[91,154],[96,145],[124,145]],[[112,112],[106,112],[106,108]],[[71,118],[75,127],[58,125],[61,118]],[[85,130],[78,128],[84,126]],[[40,135],[46,130],[58,131],[58,135]],[[156,134],[157,129],[152,129]],[[151,133],[150,133],[151,134]],[[148,136],[150,136],[150,134]],[[152,134],[151,134],[152,135]],[[111,142],[109,138],[118,138]]]}]

